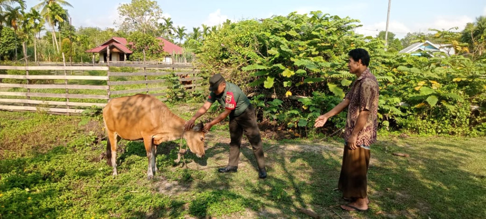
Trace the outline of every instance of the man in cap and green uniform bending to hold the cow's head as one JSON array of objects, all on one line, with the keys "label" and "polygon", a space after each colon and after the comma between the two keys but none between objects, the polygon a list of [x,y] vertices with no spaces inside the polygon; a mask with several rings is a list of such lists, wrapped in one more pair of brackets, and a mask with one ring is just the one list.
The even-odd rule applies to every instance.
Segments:
[{"label": "man in cap and green uniform bending to hold the cow's head", "polygon": [[248,100],[238,86],[226,82],[221,74],[213,75],[209,79],[209,90],[211,93],[206,103],[186,122],[184,125],[185,129],[191,129],[196,119],[206,113],[214,102],[218,101],[221,106],[225,107],[225,111],[204,125],[204,131],[208,132],[213,125],[218,124],[229,115],[229,135],[231,137],[231,142],[229,143],[229,162],[228,166],[219,168],[218,171],[222,173],[238,171],[241,138],[245,134],[253,147],[253,154],[257,159],[258,178],[266,178],[267,172],[265,169],[260,130],[258,129],[257,119],[255,117],[255,108],[250,103],[250,100]]}]

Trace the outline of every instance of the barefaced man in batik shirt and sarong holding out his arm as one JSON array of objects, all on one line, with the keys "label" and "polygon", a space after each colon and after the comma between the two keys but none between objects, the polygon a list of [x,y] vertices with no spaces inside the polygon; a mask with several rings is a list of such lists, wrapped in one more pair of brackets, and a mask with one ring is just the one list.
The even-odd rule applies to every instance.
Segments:
[{"label": "barefaced man in batik shirt and sarong holding out his arm", "polygon": [[341,205],[343,210],[368,210],[367,174],[370,163],[370,145],[376,141],[378,114],[378,82],[370,72],[370,55],[364,49],[349,51],[349,72],[358,78],[351,84],[351,90],[343,102],[320,115],[314,127],[323,126],[329,117],[346,107],[347,119],[344,130],[344,153],[338,189],[349,204]]}]

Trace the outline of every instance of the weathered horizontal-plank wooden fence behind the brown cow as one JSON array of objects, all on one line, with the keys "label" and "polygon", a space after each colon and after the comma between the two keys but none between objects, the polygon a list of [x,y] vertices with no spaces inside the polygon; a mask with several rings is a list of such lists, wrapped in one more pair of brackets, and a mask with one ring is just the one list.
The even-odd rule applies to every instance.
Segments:
[{"label": "weathered horizontal-plank wooden fence behind the brown cow", "polygon": [[137,68],[135,72],[111,72],[109,66],[92,65],[0,66],[0,109],[81,113],[92,106],[104,107],[111,98],[136,93],[164,101],[175,77],[185,92],[201,89],[199,71],[191,66],[155,65],[120,66]]}]

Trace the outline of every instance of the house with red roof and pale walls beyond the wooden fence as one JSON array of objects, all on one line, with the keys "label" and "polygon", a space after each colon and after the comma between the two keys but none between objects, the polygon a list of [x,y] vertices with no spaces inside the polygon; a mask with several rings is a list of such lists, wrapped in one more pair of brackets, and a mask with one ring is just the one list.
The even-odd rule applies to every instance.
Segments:
[{"label": "house with red roof and pale walls beyond the wooden fence", "polygon": [[[167,53],[164,62],[171,63],[174,56],[180,56],[182,55],[182,48],[171,43],[170,41],[162,38],[162,37],[157,37],[157,39],[160,39],[160,45],[163,46],[164,52]],[[97,46],[93,49],[86,50],[86,53],[93,53],[93,59],[94,59],[94,54],[98,53],[100,56],[100,62],[107,62],[109,61],[126,61],[130,57],[130,55],[133,53],[130,49],[128,49],[127,45],[130,44],[130,42],[127,42],[127,39],[123,37],[112,37],[111,39],[107,40],[100,46]]]}]

